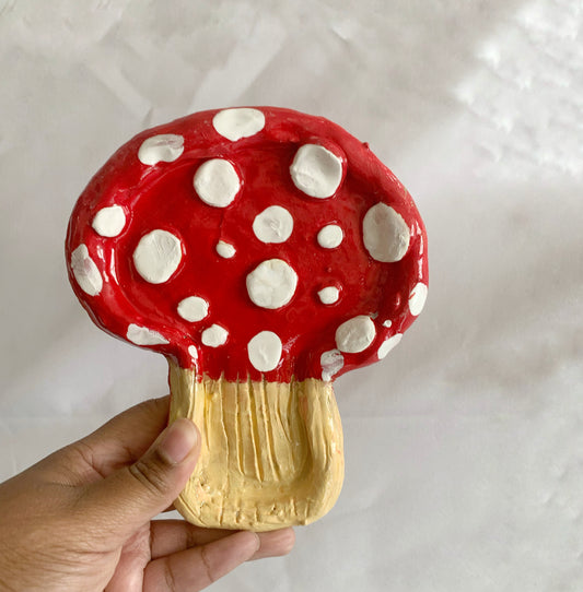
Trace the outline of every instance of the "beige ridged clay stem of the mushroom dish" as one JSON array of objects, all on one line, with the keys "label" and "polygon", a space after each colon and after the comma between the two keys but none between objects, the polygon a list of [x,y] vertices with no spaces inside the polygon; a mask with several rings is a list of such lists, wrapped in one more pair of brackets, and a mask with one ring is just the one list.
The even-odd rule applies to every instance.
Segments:
[{"label": "beige ridged clay stem of the mushroom dish", "polygon": [[170,422],[188,417],[200,459],[176,509],[207,528],[270,531],[308,524],[335,504],[345,473],[331,382],[229,382],[168,359]]}]

